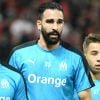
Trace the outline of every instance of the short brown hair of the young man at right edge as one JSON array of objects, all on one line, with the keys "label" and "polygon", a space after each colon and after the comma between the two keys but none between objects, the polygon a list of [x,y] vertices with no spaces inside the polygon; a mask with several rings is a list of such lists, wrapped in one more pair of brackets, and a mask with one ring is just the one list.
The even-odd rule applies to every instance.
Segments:
[{"label": "short brown hair of the young man at right edge", "polygon": [[84,52],[90,43],[100,43],[100,34],[90,33],[88,36],[85,37],[84,42],[83,42]]}]

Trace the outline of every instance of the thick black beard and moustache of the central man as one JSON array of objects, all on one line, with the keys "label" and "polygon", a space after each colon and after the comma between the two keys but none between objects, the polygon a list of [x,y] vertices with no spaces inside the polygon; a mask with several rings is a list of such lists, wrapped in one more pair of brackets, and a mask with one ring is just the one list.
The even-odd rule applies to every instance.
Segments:
[{"label": "thick black beard and moustache of the central man", "polygon": [[[41,32],[46,43],[49,45],[54,45],[58,43],[61,39],[61,34],[59,34],[56,30],[53,30],[52,32],[47,33],[45,30],[42,29]],[[50,37],[50,35],[57,35],[57,37],[53,38],[53,37]]]}]

